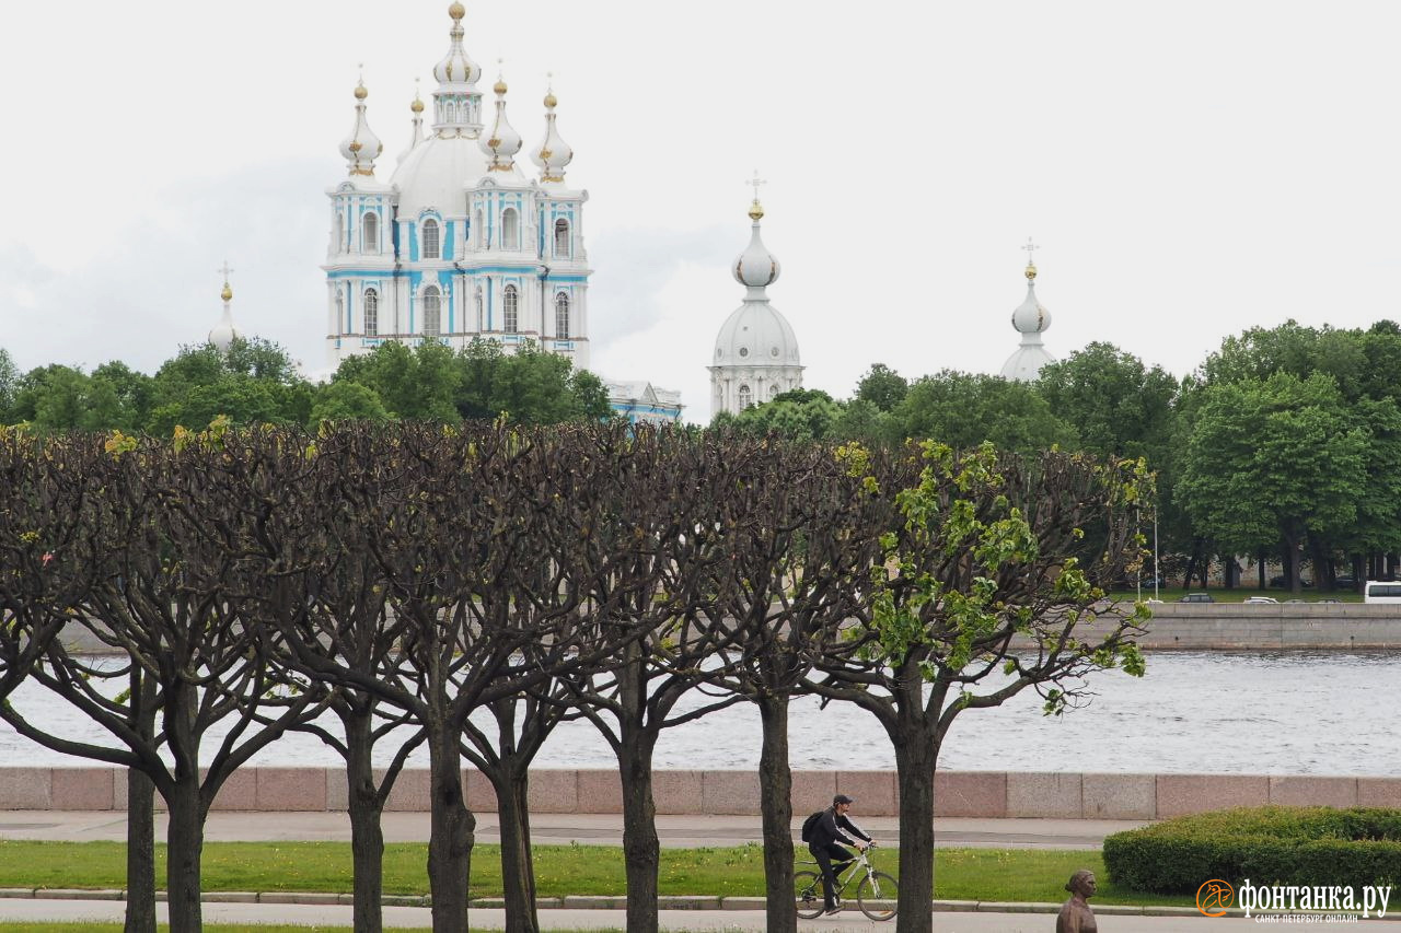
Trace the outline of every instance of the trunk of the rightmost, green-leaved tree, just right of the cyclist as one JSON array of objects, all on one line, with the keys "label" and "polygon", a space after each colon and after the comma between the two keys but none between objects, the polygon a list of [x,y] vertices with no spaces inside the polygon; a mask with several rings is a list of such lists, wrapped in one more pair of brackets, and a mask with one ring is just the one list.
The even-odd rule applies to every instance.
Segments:
[{"label": "trunk of the rightmost, green-leaved tree, just right of the cyclist", "polygon": [[911,730],[895,742],[899,787],[899,913],[895,933],[934,927],[934,765],[939,748],[926,730]]}]

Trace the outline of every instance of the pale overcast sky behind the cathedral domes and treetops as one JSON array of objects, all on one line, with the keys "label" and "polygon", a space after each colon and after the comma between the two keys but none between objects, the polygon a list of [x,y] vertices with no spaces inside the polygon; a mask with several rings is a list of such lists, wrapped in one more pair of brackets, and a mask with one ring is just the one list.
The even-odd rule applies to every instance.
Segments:
[{"label": "pale overcast sky behind the cathedral domes and treetops", "polygon": [[[219,319],[227,258],[237,326],[324,368],[359,66],[388,179],[447,6],[6,4],[0,346],[154,370]],[[516,0],[464,25],[527,144],[555,73],[594,368],[695,420],[755,170],[769,296],[836,396],[877,361],[999,371],[1027,237],[1056,357],[1110,340],[1182,375],[1251,325],[1401,318],[1401,4]]]}]

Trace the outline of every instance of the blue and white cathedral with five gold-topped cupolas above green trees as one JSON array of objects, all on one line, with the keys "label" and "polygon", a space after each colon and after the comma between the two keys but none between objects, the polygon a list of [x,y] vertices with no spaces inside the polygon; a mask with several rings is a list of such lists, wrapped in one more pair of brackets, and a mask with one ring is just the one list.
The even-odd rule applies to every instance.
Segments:
[{"label": "blue and white cathedral with five gold-topped cupolas above green trees", "polygon": [[588,193],[565,181],[574,154],[555,126],[555,94],[545,94],[544,134],[528,150],[538,171],[527,177],[506,81],[483,104],[482,69],[462,48],[464,13],[461,3],[448,8],[429,132],[415,98],[413,133],[388,182],[377,177],[384,144],[366,116],[368,91],[363,81],[354,90],[354,127],[340,143],[346,179],[326,192],[331,368],[385,340],[460,349],[474,338],[507,352],[532,340],[588,366]]}]

